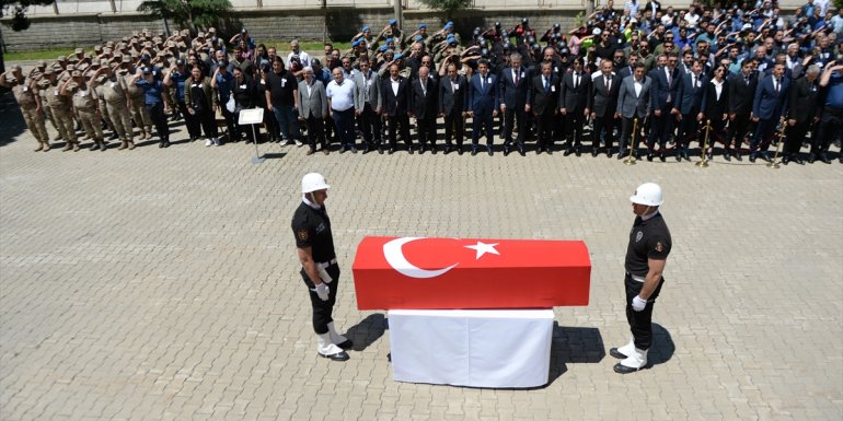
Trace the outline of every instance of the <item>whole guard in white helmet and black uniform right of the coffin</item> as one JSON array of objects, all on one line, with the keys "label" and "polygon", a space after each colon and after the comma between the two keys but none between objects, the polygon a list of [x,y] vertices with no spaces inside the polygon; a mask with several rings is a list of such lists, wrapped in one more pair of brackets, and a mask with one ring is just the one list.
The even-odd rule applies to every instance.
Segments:
[{"label": "whole guard in white helmet and black uniform right of the coffin", "polygon": [[614,371],[634,373],[647,366],[647,351],[653,346],[653,307],[665,283],[663,271],[672,247],[670,231],[659,212],[662,204],[661,187],[655,183],[638,186],[630,197],[635,221],[630,231],[624,269],[626,291],[626,321],[632,338],[609,353],[621,359]]}]

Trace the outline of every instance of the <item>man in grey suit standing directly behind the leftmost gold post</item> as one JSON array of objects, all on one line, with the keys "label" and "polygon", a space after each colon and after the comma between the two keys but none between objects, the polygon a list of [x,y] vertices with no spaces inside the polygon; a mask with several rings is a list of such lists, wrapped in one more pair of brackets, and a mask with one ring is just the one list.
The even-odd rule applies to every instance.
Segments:
[{"label": "man in grey suit standing directly behind the leftmost gold post", "polygon": [[621,82],[621,90],[617,92],[617,112],[623,117],[619,160],[627,154],[627,147],[632,148],[633,155],[638,157],[642,127],[644,119],[650,114],[651,82],[646,72],[644,63],[635,65],[635,72]]}]

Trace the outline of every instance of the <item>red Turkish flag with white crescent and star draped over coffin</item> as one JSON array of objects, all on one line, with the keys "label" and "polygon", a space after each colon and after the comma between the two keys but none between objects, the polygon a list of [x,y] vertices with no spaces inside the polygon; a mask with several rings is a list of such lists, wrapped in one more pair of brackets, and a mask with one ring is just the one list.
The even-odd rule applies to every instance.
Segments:
[{"label": "red Turkish flag with white crescent and star draped over coffin", "polygon": [[581,241],[366,237],[351,267],[359,309],[588,305]]}]

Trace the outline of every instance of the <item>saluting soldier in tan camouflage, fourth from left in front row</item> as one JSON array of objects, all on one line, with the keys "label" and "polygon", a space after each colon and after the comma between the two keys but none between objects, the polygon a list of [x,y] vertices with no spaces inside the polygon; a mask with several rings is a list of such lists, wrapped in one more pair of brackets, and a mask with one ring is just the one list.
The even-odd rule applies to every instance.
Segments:
[{"label": "saluting soldier in tan camouflage, fourth from left in front row", "polygon": [[[135,135],[131,129],[131,100],[128,94],[126,78],[117,74],[105,60],[90,79],[90,84],[96,93],[99,103],[105,104],[105,110],[114,132],[120,139],[118,150],[135,149]],[[102,108],[101,108],[102,109]]]}]

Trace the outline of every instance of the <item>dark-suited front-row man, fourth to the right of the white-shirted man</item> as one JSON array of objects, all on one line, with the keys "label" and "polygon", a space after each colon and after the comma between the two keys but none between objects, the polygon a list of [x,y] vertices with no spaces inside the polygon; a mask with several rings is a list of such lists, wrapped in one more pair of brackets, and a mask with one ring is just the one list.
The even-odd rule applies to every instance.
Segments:
[{"label": "dark-suited front-row man, fourth to the right of the white-shirted man", "polygon": [[451,152],[457,141],[457,152],[462,155],[465,137],[465,102],[469,82],[457,73],[457,65],[448,65],[448,75],[439,82],[439,115],[444,117],[444,153]]}]

